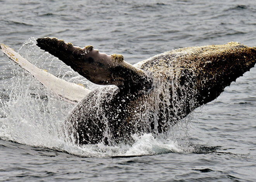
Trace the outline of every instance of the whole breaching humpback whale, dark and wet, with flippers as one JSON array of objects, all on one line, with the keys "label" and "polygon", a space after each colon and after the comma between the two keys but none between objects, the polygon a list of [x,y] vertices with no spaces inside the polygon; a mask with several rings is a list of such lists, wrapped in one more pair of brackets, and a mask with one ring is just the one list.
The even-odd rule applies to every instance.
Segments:
[{"label": "whole breaching humpback whale, dark and wet, with flippers", "polygon": [[[237,42],[175,49],[131,65],[122,55],[100,53],[93,46],[80,48],[50,37],[36,41],[89,81],[108,85],[88,90],[62,83],[71,90],[63,94],[47,85],[43,72],[24,68],[53,92],[78,102],[65,125],[67,138],[77,145],[130,143],[133,134],[166,132],[256,63],[256,47]],[[1,49],[8,54],[3,45]],[[8,55],[15,60],[13,54]],[[73,88],[78,91],[72,95]]]}]

